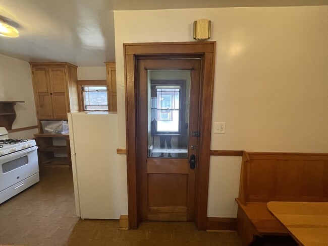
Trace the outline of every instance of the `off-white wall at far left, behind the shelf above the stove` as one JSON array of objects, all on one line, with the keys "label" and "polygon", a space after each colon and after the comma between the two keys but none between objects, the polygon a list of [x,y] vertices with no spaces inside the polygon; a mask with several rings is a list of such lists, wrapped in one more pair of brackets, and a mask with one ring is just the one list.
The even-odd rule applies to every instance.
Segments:
[{"label": "off-white wall at far left, behind the shelf above the stove", "polygon": [[[12,129],[37,125],[30,65],[26,61],[0,54],[0,100],[17,103],[17,117]],[[12,133],[11,138],[33,138],[37,129]]]}]

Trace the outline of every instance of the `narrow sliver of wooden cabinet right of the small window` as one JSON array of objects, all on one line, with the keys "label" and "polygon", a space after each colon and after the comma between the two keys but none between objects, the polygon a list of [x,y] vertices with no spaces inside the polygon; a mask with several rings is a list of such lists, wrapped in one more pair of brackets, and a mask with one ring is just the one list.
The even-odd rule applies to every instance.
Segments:
[{"label": "narrow sliver of wooden cabinet right of the small window", "polygon": [[110,61],[106,64],[106,78],[107,78],[107,98],[108,111],[117,111],[117,96],[116,96],[116,65],[115,61]]}]

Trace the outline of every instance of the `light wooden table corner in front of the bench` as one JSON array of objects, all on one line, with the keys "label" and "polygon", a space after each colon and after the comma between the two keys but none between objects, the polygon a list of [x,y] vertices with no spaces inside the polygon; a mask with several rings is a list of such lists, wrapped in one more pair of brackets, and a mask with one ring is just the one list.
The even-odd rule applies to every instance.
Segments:
[{"label": "light wooden table corner in front of the bench", "polygon": [[328,245],[328,203],[268,202],[267,208],[300,245]]}]

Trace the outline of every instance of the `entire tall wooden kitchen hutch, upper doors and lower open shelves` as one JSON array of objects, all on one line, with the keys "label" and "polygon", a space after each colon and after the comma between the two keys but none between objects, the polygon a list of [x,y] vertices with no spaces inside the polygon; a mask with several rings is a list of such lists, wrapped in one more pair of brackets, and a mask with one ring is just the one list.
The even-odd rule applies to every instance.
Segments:
[{"label": "entire tall wooden kitchen hutch, upper doors and lower open shelves", "polygon": [[44,133],[41,120],[67,120],[68,112],[79,111],[77,67],[69,63],[30,65],[39,127],[39,133],[34,134],[39,147],[39,163],[70,165],[69,146],[53,145],[54,139],[68,139],[69,135]]}]

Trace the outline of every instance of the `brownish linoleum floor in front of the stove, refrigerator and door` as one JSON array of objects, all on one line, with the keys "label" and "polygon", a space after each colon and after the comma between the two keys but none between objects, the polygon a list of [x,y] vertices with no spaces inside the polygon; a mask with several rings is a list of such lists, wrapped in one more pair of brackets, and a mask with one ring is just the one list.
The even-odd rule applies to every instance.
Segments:
[{"label": "brownish linoleum floor in front of the stove, refrigerator and door", "polygon": [[40,182],[0,205],[0,245],[241,246],[236,232],[198,231],[192,222],[143,222],[120,230],[118,220],[75,217],[72,170],[42,167]]}]

